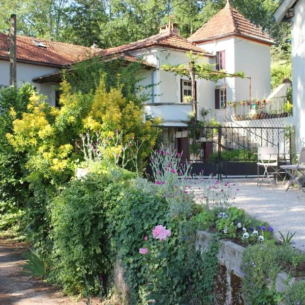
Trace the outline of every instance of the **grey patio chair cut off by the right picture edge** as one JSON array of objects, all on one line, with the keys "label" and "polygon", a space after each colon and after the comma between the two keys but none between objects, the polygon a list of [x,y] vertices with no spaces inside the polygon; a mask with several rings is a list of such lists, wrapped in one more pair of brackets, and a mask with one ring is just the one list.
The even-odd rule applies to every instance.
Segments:
[{"label": "grey patio chair cut off by the right picture edge", "polygon": [[[305,163],[305,147],[301,148],[300,156],[299,156],[299,160],[298,160],[297,164],[280,166],[281,169],[285,170],[286,175],[290,176],[290,178],[291,178],[289,181],[288,187],[286,189],[286,192],[291,187],[293,182],[295,182],[299,186],[300,190],[305,192],[305,190],[303,188],[303,184],[305,182],[305,174],[304,174],[305,165],[303,165],[301,163]],[[298,173],[300,173],[300,176],[297,176]],[[285,181],[285,179],[284,179],[284,181]],[[284,181],[283,181],[283,183],[284,183]]]}]

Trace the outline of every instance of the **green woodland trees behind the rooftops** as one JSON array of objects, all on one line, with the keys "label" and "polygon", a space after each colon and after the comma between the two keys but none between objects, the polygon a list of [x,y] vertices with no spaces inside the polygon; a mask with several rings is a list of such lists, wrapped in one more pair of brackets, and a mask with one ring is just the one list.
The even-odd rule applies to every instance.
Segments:
[{"label": "green woodland trees behind the rooftops", "polygon": [[[262,26],[286,52],[290,26],[276,23],[273,13],[280,0],[231,0],[246,18]],[[1,0],[0,31],[7,32],[8,17],[17,14],[20,34],[107,48],[158,34],[158,27],[174,15],[180,34],[190,36],[226,5],[226,0]]]}]

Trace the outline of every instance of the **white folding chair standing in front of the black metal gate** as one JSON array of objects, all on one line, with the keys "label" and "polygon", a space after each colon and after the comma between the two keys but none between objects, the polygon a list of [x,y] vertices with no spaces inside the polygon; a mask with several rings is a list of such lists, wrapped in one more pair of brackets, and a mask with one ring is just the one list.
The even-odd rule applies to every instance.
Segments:
[{"label": "white folding chair standing in front of the black metal gate", "polygon": [[[259,146],[257,151],[257,186],[261,187],[262,183],[270,183],[272,189],[272,181],[270,177],[276,175],[276,184],[278,180],[278,147],[274,146]],[[259,169],[264,168],[262,178],[259,175]],[[267,180],[268,181],[265,181]]]}]

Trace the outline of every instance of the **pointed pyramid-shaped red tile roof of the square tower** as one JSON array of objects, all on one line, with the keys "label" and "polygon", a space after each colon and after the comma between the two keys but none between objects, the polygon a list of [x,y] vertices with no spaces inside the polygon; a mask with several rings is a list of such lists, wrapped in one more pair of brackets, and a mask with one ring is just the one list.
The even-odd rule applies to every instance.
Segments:
[{"label": "pointed pyramid-shaped red tile roof of the square tower", "polygon": [[275,43],[268,34],[263,32],[261,27],[253,24],[241,15],[229,2],[214,17],[191,35],[188,40],[199,42],[230,34],[249,37],[269,44]]}]

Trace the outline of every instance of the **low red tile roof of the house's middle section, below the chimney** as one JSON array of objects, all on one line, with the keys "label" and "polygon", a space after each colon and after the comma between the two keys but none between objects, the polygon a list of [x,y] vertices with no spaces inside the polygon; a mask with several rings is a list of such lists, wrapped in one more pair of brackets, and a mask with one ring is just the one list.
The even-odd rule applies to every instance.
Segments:
[{"label": "low red tile roof of the house's middle section, below the chimney", "polygon": [[109,48],[98,52],[97,54],[101,56],[111,56],[114,54],[136,51],[139,49],[144,49],[152,46],[168,47],[183,51],[193,51],[196,53],[205,53],[210,55],[211,53],[199,48],[196,44],[188,41],[185,38],[176,36],[175,34],[168,32],[162,33],[148,38],[132,42],[127,45],[122,45],[114,48]]}]

